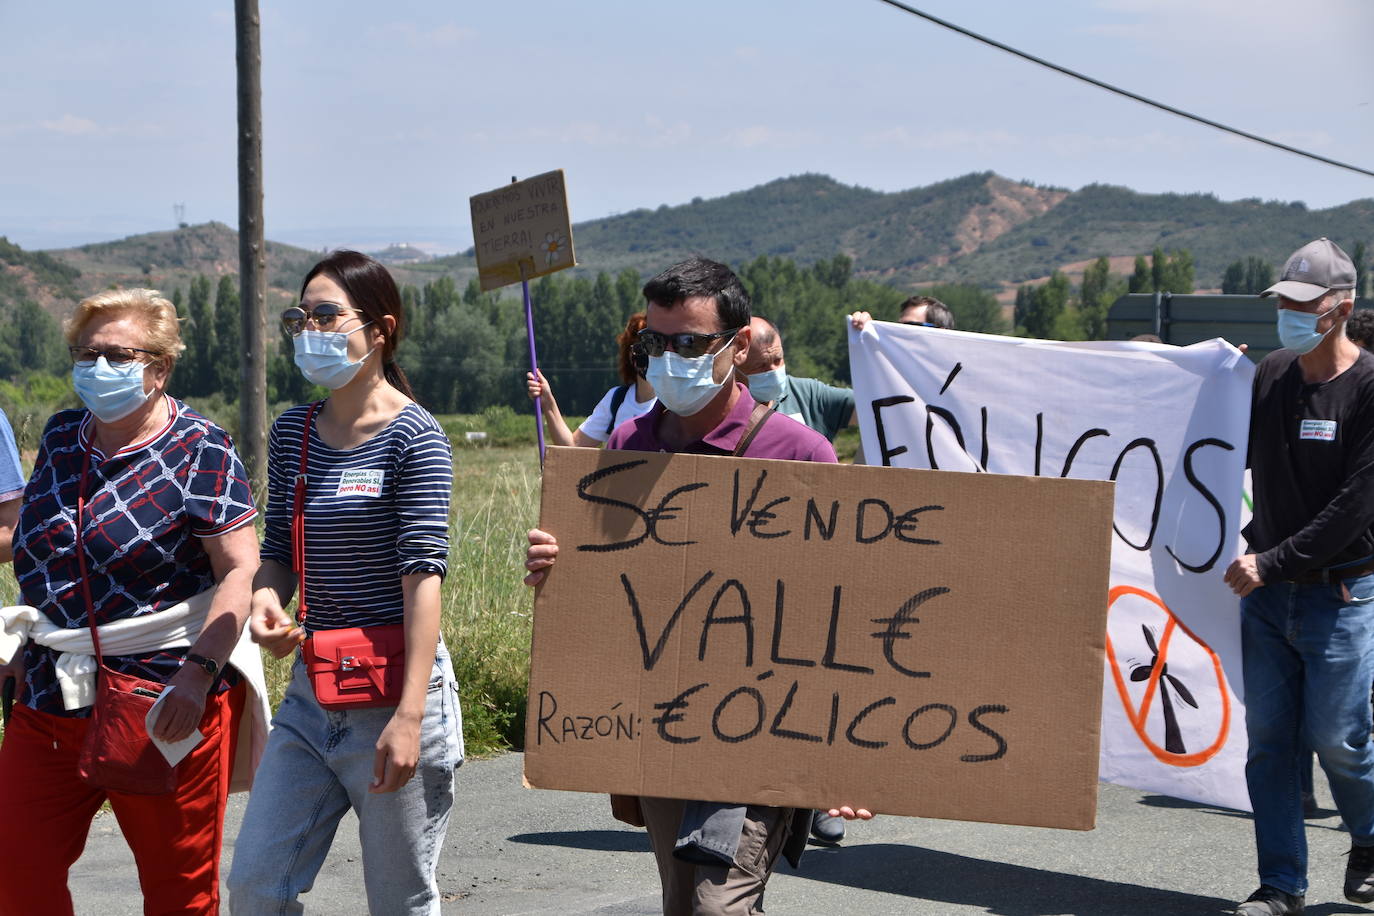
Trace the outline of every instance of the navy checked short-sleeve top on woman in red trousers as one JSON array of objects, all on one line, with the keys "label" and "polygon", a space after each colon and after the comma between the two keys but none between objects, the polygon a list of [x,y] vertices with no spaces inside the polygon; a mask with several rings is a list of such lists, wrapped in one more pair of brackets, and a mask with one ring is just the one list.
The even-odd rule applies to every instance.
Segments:
[{"label": "navy checked short-sleeve top on woman in red trousers", "polygon": [[[82,540],[91,603],[99,623],[166,610],[214,584],[201,538],[251,523],[257,515],[243,463],[229,435],[168,397],[166,426],[104,456],[92,442],[91,412],[59,411],[48,420],[23,490],[14,534],[19,593],[58,626],[88,622],[76,553],[81,460],[91,450]],[[181,666],[185,650],[104,658],[106,665],[154,681]],[[67,711],[55,674],[56,652],[29,643],[23,702],[54,715]]]}]

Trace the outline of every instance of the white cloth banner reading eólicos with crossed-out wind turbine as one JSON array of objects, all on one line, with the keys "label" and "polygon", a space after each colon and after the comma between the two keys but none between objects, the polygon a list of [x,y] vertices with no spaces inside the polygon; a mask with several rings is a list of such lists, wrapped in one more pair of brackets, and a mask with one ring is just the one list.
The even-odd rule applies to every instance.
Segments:
[{"label": "white cloth banner reading e\u00f3licos with crossed-out wind turbine", "polygon": [[[1249,810],[1239,602],[1221,575],[1239,552],[1253,364],[1224,341],[886,321],[851,330],[849,364],[868,464],[1116,481],[1101,777]],[[996,574],[996,556],[982,564]]]}]

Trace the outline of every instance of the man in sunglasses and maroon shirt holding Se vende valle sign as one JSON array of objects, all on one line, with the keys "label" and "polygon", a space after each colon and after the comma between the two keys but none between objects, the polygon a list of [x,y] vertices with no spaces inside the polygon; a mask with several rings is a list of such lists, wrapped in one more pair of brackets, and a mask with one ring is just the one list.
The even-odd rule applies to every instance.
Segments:
[{"label": "man in sunglasses and maroon shirt holding Se vende valle sign", "polygon": [[[647,378],[658,405],[624,424],[607,449],[747,455],[835,461],[820,434],[756,404],[734,382],[749,353],[749,295],[723,264],[691,258],[644,286]],[[526,584],[539,584],[558,556],[552,534],[532,530]],[[617,799],[617,816],[649,828],[662,880],[664,912],[754,913],[779,854],[797,864],[811,812],[668,798]],[[835,809],[846,817],[867,810]]]}]

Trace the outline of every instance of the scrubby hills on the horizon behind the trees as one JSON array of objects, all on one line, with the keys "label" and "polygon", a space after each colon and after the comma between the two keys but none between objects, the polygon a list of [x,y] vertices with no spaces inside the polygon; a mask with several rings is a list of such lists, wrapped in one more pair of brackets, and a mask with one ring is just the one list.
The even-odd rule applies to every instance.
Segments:
[{"label": "scrubby hills on the horizon behind the trees", "polygon": [[[688,254],[731,264],[775,255],[812,264],[846,254],[860,277],[900,288],[963,282],[1010,294],[1017,284],[1070,276],[1099,255],[1113,271],[1156,246],[1189,249],[1198,288],[1217,288],[1226,266],[1259,257],[1278,268],[1304,242],[1326,235],[1347,250],[1374,240],[1374,199],[1326,210],[1300,202],[1224,202],[1210,194],[1138,194],[1112,185],[1080,191],[1010,181],[991,172],[885,194],[822,174],[801,174],[682,206],[640,209],[574,225],[581,272],[657,272]],[[268,242],[273,306],[295,294],[317,253]],[[379,253],[400,283],[475,273],[471,250],[444,258],[393,246]],[[238,238],[221,222],[150,232],[47,253],[0,246],[0,295],[65,312],[110,284],[184,288],[198,273],[238,272]],[[73,273],[74,272],[74,273]]]}]

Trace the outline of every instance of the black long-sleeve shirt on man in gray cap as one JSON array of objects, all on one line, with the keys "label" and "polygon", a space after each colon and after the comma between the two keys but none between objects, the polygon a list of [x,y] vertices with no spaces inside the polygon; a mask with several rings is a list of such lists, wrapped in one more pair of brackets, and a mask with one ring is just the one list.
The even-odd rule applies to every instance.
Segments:
[{"label": "black long-sleeve shirt on man in gray cap", "polygon": [[1254,374],[1250,408],[1254,518],[1245,538],[1265,582],[1374,555],[1374,356],[1305,385],[1297,354],[1275,350]]}]

